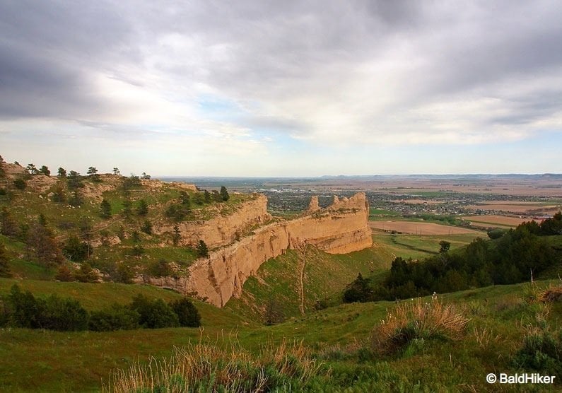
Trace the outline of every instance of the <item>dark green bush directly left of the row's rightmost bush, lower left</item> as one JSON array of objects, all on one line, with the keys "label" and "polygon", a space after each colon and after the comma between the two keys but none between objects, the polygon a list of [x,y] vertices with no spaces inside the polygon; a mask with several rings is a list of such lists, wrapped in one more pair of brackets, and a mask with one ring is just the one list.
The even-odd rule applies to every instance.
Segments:
[{"label": "dark green bush directly left of the row's rightmost bush, lower left", "polygon": [[148,329],[161,327],[178,327],[180,320],[172,307],[164,303],[162,299],[150,300],[144,295],[136,295],[130,305],[131,310],[141,315],[139,324]]}]

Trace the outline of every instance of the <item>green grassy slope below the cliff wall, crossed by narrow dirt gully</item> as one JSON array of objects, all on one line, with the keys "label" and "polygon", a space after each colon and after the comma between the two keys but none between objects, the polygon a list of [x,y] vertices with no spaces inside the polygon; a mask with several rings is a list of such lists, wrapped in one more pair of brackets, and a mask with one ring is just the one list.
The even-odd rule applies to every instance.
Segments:
[{"label": "green grassy slope below the cliff wall, crossed by narrow dirt gully", "polygon": [[[264,321],[270,307],[285,317],[301,315],[300,273],[305,259],[304,310],[341,303],[341,293],[358,274],[374,281],[390,269],[395,257],[421,259],[436,254],[439,242],[447,240],[452,250],[469,244],[474,235],[404,235],[373,233],[373,246],[351,254],[327,254],[308,246],[303,251],[288,250],[259,267],[255,277],[244,284],[240,298],[228,301],[226,308]],[[319,304],[320,303],[320,304]]]}]

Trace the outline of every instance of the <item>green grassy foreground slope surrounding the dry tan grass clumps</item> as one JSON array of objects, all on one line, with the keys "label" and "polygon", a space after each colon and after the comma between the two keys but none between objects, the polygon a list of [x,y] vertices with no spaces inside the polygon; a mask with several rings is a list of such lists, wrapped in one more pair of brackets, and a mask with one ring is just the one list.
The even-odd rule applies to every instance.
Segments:
[{"label": "green grassy foreground slope surrounding the dry tan grass clumps", "polygon": [[[10,284],[11,281],[2,281],[2,290]],[[33,283],[30,285],[40,291]],[[82,301],[95,304],[98,293],[87,288]],[[51,290],[68,293],[69,288],[54,286]],[[107,286],[104,290],[119,299],[118,287]],[[457,311],[469,318],[462,336],[418,340],[388,355],[373,353],[370,332],[387,317],[387,310],[410,300],[399,305],[339,305],[272,327],[247,324],[230,310],[206,308],[198,303],[204,316],[201,332],[189,328],[107,333],[2,329],[0,387],[10,391],[96,391],[115,368],[127,369],[137,361],[146,363],[151,356],[169,356],[173,346],[201,341],[232,348],[236,343],[238,348],[259,353],[266,343],[276,345],[288,339],[302,340],[309,356],[324,362],[317,375],[324,391],[511,391],[512,387],[488,385],[486,375],[521,372],[511,359],[522,347],[525,336],[537,329],[556,334],[562,322],[561,303],[527,302],[529,292],[529,284],[519,284],[444,295],[443,303],[455,304]],[[158,295],[170,294],[160,291]],[[521,387],[522,391],[529,388]],[[551,389],[537,386],[532,390]]]}]

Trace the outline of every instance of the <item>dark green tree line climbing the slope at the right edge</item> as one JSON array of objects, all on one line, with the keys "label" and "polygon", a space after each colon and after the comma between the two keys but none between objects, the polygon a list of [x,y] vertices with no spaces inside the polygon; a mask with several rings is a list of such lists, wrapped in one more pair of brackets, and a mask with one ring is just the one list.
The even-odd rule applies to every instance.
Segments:
[{"label": "dark green tree line climbing the slope at the right edge", "polygon": [[[528,281],[555,264],[559,256],[549,235],[562,235],[562,213],[542,223],[529,221],[495,239],[477,238],[467,247],[414,261],[397,257],[382,283],[361,274],[344,291],[344,302],[395,300]],[[443,250],[443,249],[446,250]]]}]

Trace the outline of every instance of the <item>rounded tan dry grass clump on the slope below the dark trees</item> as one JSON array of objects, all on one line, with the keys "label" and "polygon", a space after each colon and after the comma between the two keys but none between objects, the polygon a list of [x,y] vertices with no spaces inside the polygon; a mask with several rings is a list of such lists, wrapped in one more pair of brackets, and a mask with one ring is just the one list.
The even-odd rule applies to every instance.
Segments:
[{"label": "rounded tan dry grass clump on the slope below the dark trees", "polygon": [[371,348],[377,353],[392,353],[414,339],[459,339],[467,322],[455,305],[443,305],[436,298],[423,303],[418,298],[387,311],[387,318],[371,333]]}]

